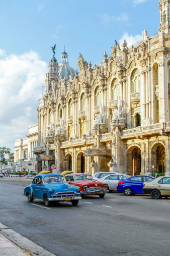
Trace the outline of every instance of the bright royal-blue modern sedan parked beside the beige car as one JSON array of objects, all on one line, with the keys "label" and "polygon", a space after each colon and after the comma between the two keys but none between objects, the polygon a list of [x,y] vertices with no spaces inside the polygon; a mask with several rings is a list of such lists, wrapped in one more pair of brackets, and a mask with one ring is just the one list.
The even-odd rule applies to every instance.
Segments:
[{"label": "bright royal-blue modern sedan parked beside the beige car", "polygon": [[152,181],[154,178],[145,175],[136,175],[118,182],[117,191],[125,195],[143,192],[143,182]]}]

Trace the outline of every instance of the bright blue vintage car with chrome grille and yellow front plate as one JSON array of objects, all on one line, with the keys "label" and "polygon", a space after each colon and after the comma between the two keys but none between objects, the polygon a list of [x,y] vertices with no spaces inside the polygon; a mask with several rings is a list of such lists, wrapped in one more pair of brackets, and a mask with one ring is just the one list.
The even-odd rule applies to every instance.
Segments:
[{"label": "bright blue vintage car with chrome grille and yellow front plate", "polygon": [[73,206],[81,199],[80,188],[66,183],[61,174],[40,174],[34,177],[32,183],[24,189],[25,196],[29,202],[34,199],[43,200],[45,205],[50,206],[51,202],[70,201]]}]

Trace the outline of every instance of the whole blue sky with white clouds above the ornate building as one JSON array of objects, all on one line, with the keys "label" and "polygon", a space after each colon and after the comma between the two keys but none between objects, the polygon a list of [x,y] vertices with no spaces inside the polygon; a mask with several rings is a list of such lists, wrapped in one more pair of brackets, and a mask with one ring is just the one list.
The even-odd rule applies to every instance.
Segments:
[{"label": "whole blue sky with white clouds above the ornate building", "polygon": [[53,56],[64,50],[76,69],[79,53],[92,65],[115,40],[128,46],[158,31],[159,0],[0,0],[0,146],[11,148],[36,124],[38,99]]}]

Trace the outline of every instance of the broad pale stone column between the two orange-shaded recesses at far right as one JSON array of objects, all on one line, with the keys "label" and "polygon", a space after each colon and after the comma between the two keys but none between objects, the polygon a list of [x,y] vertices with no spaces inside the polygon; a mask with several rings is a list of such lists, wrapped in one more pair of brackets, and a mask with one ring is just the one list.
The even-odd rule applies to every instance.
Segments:
[{"label": "broad pale stone column between the two orange-shaded recesses at far right", "polygon": [[164,60],[158,63],[159,123],[165,122]]}]

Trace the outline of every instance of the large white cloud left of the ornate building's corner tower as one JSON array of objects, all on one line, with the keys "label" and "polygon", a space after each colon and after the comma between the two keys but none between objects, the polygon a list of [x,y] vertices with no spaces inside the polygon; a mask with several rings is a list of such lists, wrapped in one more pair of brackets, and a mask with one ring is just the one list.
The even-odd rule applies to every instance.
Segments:
[{"label": "large white cloud left of the ornate building's corner tower", "polygon": [[25,138],[28,127],[36,124],[47,70],[48,64],[34,51],[0,58],[0,146],[14,152],[14,141]]}]

